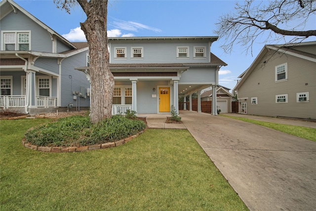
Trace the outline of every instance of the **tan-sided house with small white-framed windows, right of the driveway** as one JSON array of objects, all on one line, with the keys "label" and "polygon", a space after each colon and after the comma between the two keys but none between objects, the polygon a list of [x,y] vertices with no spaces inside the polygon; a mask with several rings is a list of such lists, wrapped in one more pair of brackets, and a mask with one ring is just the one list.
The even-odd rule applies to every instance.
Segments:
[{"label": "tan-sided house with small white-framed windows, right of the driveway", "polygon": [[316,120],[316,41],[265,45],[238,78],[239,113]]}]

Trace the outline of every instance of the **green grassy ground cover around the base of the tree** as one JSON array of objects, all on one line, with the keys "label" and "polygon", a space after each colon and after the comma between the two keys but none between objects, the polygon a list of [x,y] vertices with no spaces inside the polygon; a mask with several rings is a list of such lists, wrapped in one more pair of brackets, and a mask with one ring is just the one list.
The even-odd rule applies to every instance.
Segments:
[{"label": "green grassy ground cover around the base of the tree", "polygon": [[137,134],[146,127],[140,120],[121,115],[91,124],[89,117],[72,116],[30,129],[26,140],[38,146],[86,146],[112,142]]}]

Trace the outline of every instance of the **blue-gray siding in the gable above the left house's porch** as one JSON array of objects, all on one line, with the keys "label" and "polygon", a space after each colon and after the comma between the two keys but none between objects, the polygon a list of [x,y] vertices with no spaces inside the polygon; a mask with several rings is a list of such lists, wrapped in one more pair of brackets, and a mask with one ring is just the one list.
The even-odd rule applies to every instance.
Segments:
[{"label": "blue-gray siding in the gable above the left house's porch", "polygon": [[[10,12],[1,19],[1,31],[16,30],[31,31],[32,51],[52,52],[52,41],[49,33],[20,10],[18,10],[17,13]],[[1,45],[1,50],[2,47],[3,46]]]}]

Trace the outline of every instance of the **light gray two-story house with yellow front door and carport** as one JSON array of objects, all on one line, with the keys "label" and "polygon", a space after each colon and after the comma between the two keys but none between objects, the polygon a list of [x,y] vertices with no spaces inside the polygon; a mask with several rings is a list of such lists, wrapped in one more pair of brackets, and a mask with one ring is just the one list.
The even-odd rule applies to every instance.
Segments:
[{"label": "light gray two-story house with yellow front door and carport", "polygon": [[[115,79],[112,114],[170,114],[178,96],[218,84],[227,64],[211,53],[218,37],[109,38],[110,70]],[[78,67],[89,78],[89,67]],[[215,94],[216,97],[216,94]],[[216,101],[216,100],[215,100]],[[216,103],[214,103],[216,113]],[[201,104],[198,102],[198,112]],[[192,110],[192,104],[188,110]]]}]

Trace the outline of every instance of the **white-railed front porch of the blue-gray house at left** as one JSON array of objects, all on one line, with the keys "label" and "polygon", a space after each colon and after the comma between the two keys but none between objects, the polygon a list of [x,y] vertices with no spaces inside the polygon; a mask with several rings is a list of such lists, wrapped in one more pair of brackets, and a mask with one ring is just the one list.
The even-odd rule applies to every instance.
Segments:
[{"label": "white-railed front porch of the blue-gray house at left", "polygon": [[[59,75],[31,67],[26,54],[22,57],[15,55],[15,58],[11,54],[6,60],[3,57],[0,64],[0,108],[28,114],[31,109],[59,106]],[[53,88],[57,96],[52,95]]]}]

